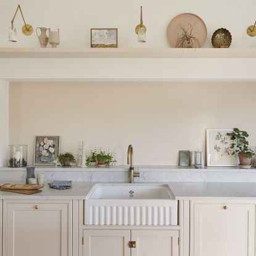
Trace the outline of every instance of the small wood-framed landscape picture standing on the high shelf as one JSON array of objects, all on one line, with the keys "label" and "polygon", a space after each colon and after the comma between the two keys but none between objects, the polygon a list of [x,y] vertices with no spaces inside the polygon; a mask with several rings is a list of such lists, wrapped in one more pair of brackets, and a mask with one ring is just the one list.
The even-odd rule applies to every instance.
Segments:
[{"label": "small wood-framed landscape picture standing on the high shelf", "polygon": [[92,48],[117,48],[117,28],[91,28]]}]

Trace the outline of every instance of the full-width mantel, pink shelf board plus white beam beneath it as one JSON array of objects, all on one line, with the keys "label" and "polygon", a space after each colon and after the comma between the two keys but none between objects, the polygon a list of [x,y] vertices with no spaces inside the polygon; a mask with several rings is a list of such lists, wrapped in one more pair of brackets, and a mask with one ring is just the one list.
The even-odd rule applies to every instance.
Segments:
[{"label": "full-width mantel, pink shelf board plus white beam beneath it", "polygon": [[256,48],[0,48],[0,79],[255,82]]}]

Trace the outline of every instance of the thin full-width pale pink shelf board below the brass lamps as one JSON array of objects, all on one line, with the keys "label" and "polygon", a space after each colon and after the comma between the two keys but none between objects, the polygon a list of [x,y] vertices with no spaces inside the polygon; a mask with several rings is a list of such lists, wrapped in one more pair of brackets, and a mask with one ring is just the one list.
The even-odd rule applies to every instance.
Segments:
[{"label": "thin full-width pale pink shelf board below the brass lamps", "polygon": [[0,48],[0,58],[256,58],[256,48]]}]

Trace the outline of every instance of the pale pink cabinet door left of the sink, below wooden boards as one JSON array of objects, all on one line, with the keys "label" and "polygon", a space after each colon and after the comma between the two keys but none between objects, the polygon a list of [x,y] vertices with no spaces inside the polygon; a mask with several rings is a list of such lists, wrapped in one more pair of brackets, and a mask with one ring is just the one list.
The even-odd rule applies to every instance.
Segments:
[{"label": "pale pink cabinet door left of the sink, below wooden boards", "polygon": [[72,255],[72,201],[4,200],[3,256],[35,255]]}]

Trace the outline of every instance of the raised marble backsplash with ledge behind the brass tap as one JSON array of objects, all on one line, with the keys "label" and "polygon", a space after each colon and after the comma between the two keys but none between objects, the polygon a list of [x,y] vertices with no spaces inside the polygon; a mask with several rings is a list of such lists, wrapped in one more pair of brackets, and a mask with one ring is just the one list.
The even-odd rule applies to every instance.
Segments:
[{"label": "raised marble backsplash with ledge behind the brass tap", "polygon": [[[165,183],[165,182],[256,182],[256,169],[239,168],[179,168],[179,167],[136,167],[140,173],[135,178],[137,183]],[[35,173],[44,172],[46,183],[53,180],[72,180],[86,182],[128,182],[127,166],[110,168],[54,168],[37,167]],[[5,181],[24,183],[25,168],[0,168],[0,184]]]}]

